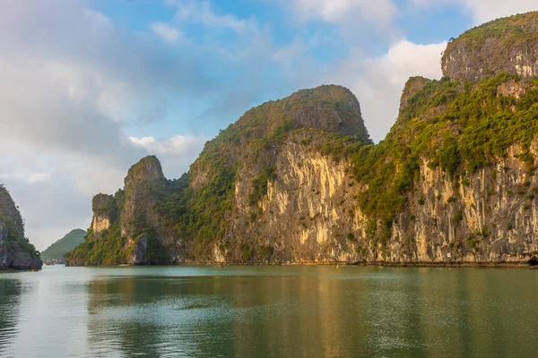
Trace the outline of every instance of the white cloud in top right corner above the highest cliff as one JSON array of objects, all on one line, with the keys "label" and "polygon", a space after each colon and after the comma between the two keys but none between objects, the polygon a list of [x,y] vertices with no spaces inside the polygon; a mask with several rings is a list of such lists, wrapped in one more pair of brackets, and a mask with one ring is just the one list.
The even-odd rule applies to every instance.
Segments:
[{"label": "white cloud in top right corner above the highest cliff", "polygon": [[421,6],[438,4],[459,4],[464,12],[471,13],[475,25],[506,17],[516,13],[538,10],[536,0],[412,0]]}]

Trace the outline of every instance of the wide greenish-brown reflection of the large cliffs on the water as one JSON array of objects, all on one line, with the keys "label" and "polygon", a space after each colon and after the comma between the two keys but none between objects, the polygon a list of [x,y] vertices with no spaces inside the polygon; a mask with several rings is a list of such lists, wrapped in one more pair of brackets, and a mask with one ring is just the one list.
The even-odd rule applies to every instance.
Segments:
[{"label": "wide greenish-brown reflection of the large cliffs on the water", "polygon": [[495,310],[525,297],[524,285],[503,288],[509,271],[282,270],[92,280],[90,355],[509,356],[538,328]]}]

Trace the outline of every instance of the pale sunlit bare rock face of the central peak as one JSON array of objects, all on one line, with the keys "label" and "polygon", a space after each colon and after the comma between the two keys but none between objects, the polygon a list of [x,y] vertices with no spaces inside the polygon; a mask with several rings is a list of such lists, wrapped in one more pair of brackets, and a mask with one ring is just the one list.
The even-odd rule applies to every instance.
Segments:
[{"label": "pale sunlit bare rock face of the central peak", "polygon": [[265,167],[239,166],[221,260],[357,260],[347,241],[355,226],[350,201],[355,183],[346,175],[350,162],[322,154],[318,148],[327,140],[327,133],[313,130],[291,135],[273,153],[273,175],[259,200],[253,197],[253,183]]}]

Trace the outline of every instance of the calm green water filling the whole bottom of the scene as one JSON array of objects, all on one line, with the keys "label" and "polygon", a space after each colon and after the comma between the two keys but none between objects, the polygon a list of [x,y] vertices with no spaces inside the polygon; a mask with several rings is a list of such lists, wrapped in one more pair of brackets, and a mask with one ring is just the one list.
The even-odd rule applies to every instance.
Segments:
[{"label": "calm green water filling the whole bottom of the scene", "polygon": [[0,274],[2,357],[535,357],[538,270],[47,267]]}]

